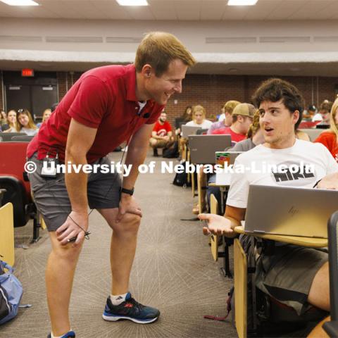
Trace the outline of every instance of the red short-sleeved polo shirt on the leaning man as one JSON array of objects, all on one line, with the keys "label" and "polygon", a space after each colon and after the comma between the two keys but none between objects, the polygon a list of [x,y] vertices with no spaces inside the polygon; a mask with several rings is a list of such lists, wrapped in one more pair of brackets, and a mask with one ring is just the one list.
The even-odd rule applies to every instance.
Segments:
[{"label": "red short-sleeved polo shirt on the leaning man", "polygon": [[88,163],[106,156],[142,125],[155,123],[163,110],[163,106],[149,100],[138,115],[135,85],[134,65],[107,65],[84,73],[42,124],[28,145],[27,157],[37,152],[37,158],[42,160],[47,152],[55,156],[57,151],[60,161],[64,162],[72,118],[82,125],[97,128],[94,143],[87,153]]}]

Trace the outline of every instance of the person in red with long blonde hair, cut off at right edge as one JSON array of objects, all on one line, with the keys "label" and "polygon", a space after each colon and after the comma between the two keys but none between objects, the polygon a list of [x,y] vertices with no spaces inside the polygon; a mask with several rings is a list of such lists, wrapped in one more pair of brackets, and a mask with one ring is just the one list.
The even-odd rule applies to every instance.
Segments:
[{"label": "person in red with long blonde hair, cut off at right edge", "polygon": [[334,101],[331,108],[330,129],[322,132],[314,142],[324,144],[338,162],[338,99]]}]

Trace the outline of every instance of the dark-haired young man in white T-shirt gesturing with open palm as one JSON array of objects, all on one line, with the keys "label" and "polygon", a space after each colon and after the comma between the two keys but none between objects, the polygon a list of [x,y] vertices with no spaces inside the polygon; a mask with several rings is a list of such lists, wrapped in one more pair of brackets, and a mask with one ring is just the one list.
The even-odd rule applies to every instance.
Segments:
[{"label": "dark-haired young man in white T-shirt gesturing with open palm", "polygon": [[[239,155],[235,165],[249,167],[255,163],[261,173],[234,172],[227,196],[225,216],[201,214],[208,221],[204,234],[213,232],[235,237],[234,227],[241,225],[247,207],[250,184],[270,186],[297,186],[321,189],[338,188],[338,163],[323,144],[296,139],[294,130],[300,123],[303,98],[296,87],[280,79],[270,79],[256,90],[253,101],[261,113],[260,124],[265,143]],[[264,164],[265,163],[265,164]],[[267,173],[263,165],[282,163],[308,163],[313,165],[312,175],[280,181],[273,171]],[[266,168],[266,167],[265,167]],[[294,168],[293,168],[294,169]],[[292,176],[291,176],[292,177]],[[278,203],[278,201],[276,201]],[[264,212],[264,201],[262,201]],[[245,236],[244,236],[245,238]],[[329,271],[327,253],[315,249],[277,243],[274,253],[264,253],[256,261],[255,283],[258,289],[294,308],[298,315],[316,306],[330,311]]]}]

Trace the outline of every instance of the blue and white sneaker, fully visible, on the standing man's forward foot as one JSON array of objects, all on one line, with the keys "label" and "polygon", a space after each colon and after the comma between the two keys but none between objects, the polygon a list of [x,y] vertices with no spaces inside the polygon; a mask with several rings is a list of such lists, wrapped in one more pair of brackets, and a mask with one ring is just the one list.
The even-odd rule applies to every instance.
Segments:
[{"label": "blue and white sneaker, fully visible, on the standing man's forward foot", "polygon": [[104,320],[115,322],[120,319],[132,320],[134,323],[149,324],[158,319],[160,311],[157,308],[144,306],[132,298],[130,292],[127,293],[125,301],[119,305],[111,303],[111,297],[108,297],[104,314]]}]

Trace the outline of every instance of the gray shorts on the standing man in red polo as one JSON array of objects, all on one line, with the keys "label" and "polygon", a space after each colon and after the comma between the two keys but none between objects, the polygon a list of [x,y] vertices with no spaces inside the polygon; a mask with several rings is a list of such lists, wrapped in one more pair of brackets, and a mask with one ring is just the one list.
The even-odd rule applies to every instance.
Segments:
[{"label": "gray shorts on the standing man in red polo", "polygon": [[[30,187],[37,209],[44,218],[48,231],[56,231],[65,223],[70,211],[70,200],[65,187],[65,175],[57,174],[55,178],[41,177],[43,161],[34,154],[28,161],[37,164],[35,173],[28,174]],[[101,158],[94,164],[108,164],[107,157]],[[87,196],[91,209],[118,208],[120,202],[121,180],[118,173],[90,173],[88,174]]]}]

